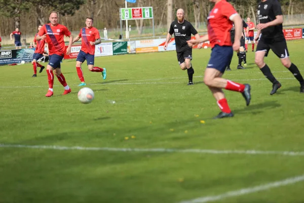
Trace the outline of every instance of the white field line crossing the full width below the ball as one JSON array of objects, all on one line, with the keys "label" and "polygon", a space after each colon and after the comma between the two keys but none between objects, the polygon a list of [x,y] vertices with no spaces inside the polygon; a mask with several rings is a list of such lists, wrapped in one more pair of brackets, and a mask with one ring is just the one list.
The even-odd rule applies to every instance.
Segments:
[{"label": "white field line crossing the full width below the ball", "polygon": [[112,148],[112,147],[80,147],[80,146],[67,147],[67,146],[56,146],[56,145],[13,145],[13,144],[1,144],[1,143],[0,143],[0,148],[29,148],[29,149],[115,151],[115,152],[166,152],[166,153],[197,153],[197,154],[248,154],[248,155],[304,156],[304,151]]}]

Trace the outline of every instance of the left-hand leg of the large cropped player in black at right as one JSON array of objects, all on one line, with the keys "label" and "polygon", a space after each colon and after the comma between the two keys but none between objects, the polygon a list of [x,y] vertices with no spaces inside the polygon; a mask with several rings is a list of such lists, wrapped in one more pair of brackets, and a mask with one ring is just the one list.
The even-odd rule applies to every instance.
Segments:
[{"label": "left-hand leg of the large cropped player in black at right", "polygon": [[277,81],[274,75],[271,73],[269,66],[264,62],[264,57],[268,55],[270,46],[264,41],[259,40],[256,46],[255,52],[255,64],[259,67],[264,76],[273,84],[273,89],[270,94],[274,94],[281,87],[281,83]]}]

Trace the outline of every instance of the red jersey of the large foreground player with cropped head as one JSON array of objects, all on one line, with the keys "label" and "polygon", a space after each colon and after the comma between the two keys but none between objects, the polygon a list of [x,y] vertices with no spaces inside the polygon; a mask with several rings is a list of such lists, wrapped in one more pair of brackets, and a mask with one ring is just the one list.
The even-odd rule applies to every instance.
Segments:
[{"label": "red jersey of the large foreground player with cropped head", "polygon": [[229,18],[234,14],[237,14],[236,10],[226,0],[216,3],[210,11],[207,28],[212,48],[215,45],[232,46],[230,37],[232,21]]}]

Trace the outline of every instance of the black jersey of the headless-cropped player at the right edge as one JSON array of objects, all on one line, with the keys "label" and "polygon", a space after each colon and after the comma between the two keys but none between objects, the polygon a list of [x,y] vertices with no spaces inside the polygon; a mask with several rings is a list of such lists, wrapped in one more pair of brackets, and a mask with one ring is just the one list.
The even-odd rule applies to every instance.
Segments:
[{"label": "black jersey of the headless-cropped player at the right edge", "polygon": [[[267,0],[265,2],[260,2],[257,6],[257,16],[259,23],[268,23],[276,19],[276,16],[282,15],[282,9],[279,1],[277,0]],[[282,39],[283,25],[275,25],[267,27],[261,30],[261,38],[272,38],[272,39]]]}]

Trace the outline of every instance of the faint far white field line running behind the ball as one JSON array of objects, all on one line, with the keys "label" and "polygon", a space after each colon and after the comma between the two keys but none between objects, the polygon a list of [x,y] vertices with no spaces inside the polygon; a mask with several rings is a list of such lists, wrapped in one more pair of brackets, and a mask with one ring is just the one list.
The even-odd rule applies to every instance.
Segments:
[{"label": "faint far white field line running behind the ball", "polygon": [[[295,78],[277,78],[278,80],[294,80]],[[155,79],[158,80],[158,79]],[[259,79],[232,79],[233,81],[259,81],[259,80],[267,80],[267,78],[259,78]],[[176,84],[176,83],[186,83],[186,82],[138,82],[138,83],[94,83],[88,85],[149,85],[149,84]],[[57,87],[60,85],[54,85]],[[69,85],[69,86],[78,86],[77,84]],[[34,88],[34,87],[46,87],[46,86],[0,86],[3,89],[10,88]]]}]

